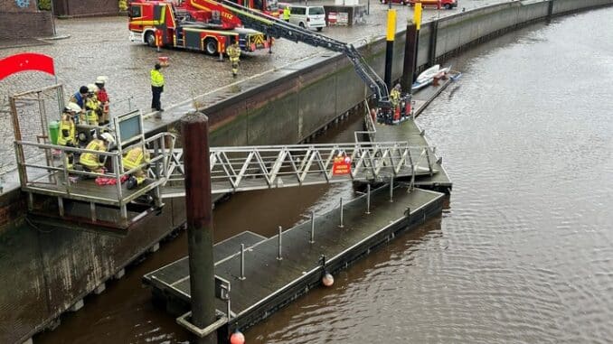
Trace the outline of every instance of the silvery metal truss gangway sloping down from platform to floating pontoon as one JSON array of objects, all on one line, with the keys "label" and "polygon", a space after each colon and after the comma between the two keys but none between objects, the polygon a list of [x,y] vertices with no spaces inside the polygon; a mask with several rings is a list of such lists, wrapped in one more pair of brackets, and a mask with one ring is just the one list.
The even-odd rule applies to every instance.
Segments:
[{"label": "silvery metal truss gangway sloping down from platform to floating pontoon", "polygon": [[[334,172],[335,159],[348,158],[350,170]],[[162,198],[184,197],[183,151],[174,149]],[[439,172],[429,147],[408,142],[294,144],[212,147],[213,194],[286,188],[346,181],[390,181],[406,177],[411,184]]]}]

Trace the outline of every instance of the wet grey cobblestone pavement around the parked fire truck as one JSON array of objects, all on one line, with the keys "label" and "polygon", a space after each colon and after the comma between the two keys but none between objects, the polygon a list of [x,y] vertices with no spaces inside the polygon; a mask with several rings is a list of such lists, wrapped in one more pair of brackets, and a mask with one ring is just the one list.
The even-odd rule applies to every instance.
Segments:
[{"label": "wet grey cobblestone pavement around the parked fire truck", "polygon": [[[496,0],[459,0],[458,9],[445,11],[426,9],[423,20],[429,21],[438,16],[456,14],[462,8],[469,10],[479,6],[500,3]],[[361,3],[366,5],[364,0]],[[309,5],[322,4],[310,1]],[[326,3],[327,4],[327,3]],[[371,40],[385,34],[387,5],[379,1],[370,2],[370,14],[364,23],[354,26],[328,27],[322,32],[344,42]],[[398,10],[397,26],[402,30],[407,18],[412,18],[410,6],[394,5]],[[56,32],[67,39],[49,41],[50,44],[21,46],[0,49],[0,57],[20,52],[39,52],[53,57],[57,82],[64,85],[65,98],[70,97],[81,85],[92,83],[99,75],[108,76],[108,94],[111,111],[122,113],[131,107],[142,108],[148,112],[151,92],[149,70],[158,56],[168,56],[170,67],[163,70],[165,92],[162,96],[163,107],[194,98],[203,93],[229,85],[240,79],[247,79],[262,72],[274,73],[275,68],[290,64],[322,53],[322,48],[314,48],[304,43],[278,40],[273,53],[258,51],[243,54],[240,75],[232,78],[230,63],[192,51],[155,49],[127,40],[126,17],[102,17],[71,20],[56,20]],[[5,44],[0,44],[0,47]],[[0,81],[0,173],[14,169],[13,128],[5,106],[9,95],[34,88],[43,88],[55,83],[52,76],[40,72],[22,72]],[[131,98],[129,101],[128,98]],[[59,114],[57,115],[59,118]],[[53,119],[50,116],[50,120]]]}]

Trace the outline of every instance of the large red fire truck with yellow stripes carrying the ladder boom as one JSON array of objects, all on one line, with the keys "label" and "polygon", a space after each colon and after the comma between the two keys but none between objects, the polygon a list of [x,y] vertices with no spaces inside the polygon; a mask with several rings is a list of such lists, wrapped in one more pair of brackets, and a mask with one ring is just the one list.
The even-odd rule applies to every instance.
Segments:
[{"label": "large red fire truck with yellow stripes carrying the ladder boom", "polygon": [[[264,14],[276,0],[238,0],[240,5],[259,6]],[[236,3],[236,1],[234,1]],[[176,47],[204,51],[214,55],[238,41],[243,51],[269,49],[272,44],[264,33],[244,28],[240,19],[213,0],[147,1],[133,0],[128,7],[130,41],[151,47]]]}]

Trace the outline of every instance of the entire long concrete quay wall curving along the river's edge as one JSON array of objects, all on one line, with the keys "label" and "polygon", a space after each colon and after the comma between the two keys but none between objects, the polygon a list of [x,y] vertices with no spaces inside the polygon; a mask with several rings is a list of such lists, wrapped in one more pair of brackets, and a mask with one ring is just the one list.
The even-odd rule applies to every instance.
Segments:
[{"label": "entire long concrete quay wall curving along the river's edge", "polygon": [[[425,23],[420,30],[418,64],[423,67],[445,59],[484,38],[550,14],[603,5],[613,5],[613,0],[517,1]],[[392,79],[401,77],[404,36],[404,32],[396,36]],[[383,75],[384,38],[364,42],[360,50]],[[358,106],[368,93],[350,61],[329,53],[253,79],[250,86],[230,86],[196,101],[210,117],[212,145],[295,144]],[[146,126],[177,131],[177,119],[147,121]],[[8,200],[10,195],[13,200]],[[182,200],[167,202],[161,215],[147,218],[127,237],[34,227],[24,223],[24,210],[19,214],[14,211],[24,209],[23,204],[23,197],[14,197],[12,192],[0,196],[0,207],[13,207],[5,216],[11,217],[13,225],[22,218],[19,222],[23,224],[0,230],[1,342],[23,341],[52,324],[75,302],[184,223]]]}]

